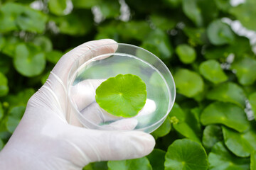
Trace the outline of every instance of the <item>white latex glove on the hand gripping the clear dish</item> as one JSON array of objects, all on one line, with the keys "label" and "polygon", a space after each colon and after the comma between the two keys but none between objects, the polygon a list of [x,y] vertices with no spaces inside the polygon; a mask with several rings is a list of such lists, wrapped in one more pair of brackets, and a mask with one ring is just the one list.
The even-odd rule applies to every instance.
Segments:
[{"label": "white latex glove on the hand gripping the clear dish", "polygon": [[[75,126],[80,123],[70,111],[63,82],[67,81],[70,67],[80,55],[110,43],[114,40],[86,42],[63,55],[46,84],[28,101],[21,122],[0,152],[0,169],[82,169],[90,162],[134,159],[151,152],[154,138],[144,132]],[[98,52],[114,50],[102,47]],[[126,128],[132,129],[135,125]]]}]

